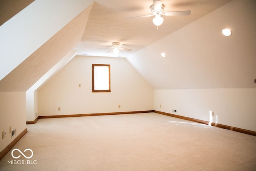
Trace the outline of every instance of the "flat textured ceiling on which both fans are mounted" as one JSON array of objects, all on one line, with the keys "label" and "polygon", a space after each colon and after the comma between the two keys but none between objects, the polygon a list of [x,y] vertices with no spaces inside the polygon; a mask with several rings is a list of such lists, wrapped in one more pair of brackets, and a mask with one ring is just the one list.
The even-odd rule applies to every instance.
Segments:
[{"label": "flat textured ceiling on which both fans are mounted", "polygon": [[231,0],[162,0],[164,12],[191,10],[190,16],[163,16],[164,23],[158,30],[152,17],[133,18],[151,14],[152,0],[96,0],[81,42],[74,50],[78,55],[110,56],[112,42],[124,44],[131,52],[121,51],[120,57],[127,57],[138,50],[160,40],[202,16],[223,6]]}]

